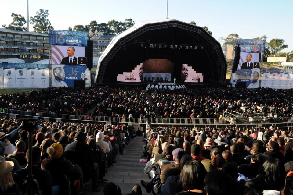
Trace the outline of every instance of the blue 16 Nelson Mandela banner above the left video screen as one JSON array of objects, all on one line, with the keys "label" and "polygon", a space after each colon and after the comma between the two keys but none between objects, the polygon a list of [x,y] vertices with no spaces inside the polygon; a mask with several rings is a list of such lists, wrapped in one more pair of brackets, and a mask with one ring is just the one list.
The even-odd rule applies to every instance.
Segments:
[{"label": "blue 16 Nelson Mandela banner above the left video screen", "polygon": [[49,30],[49,45],[87,46],[89,32]]}]

